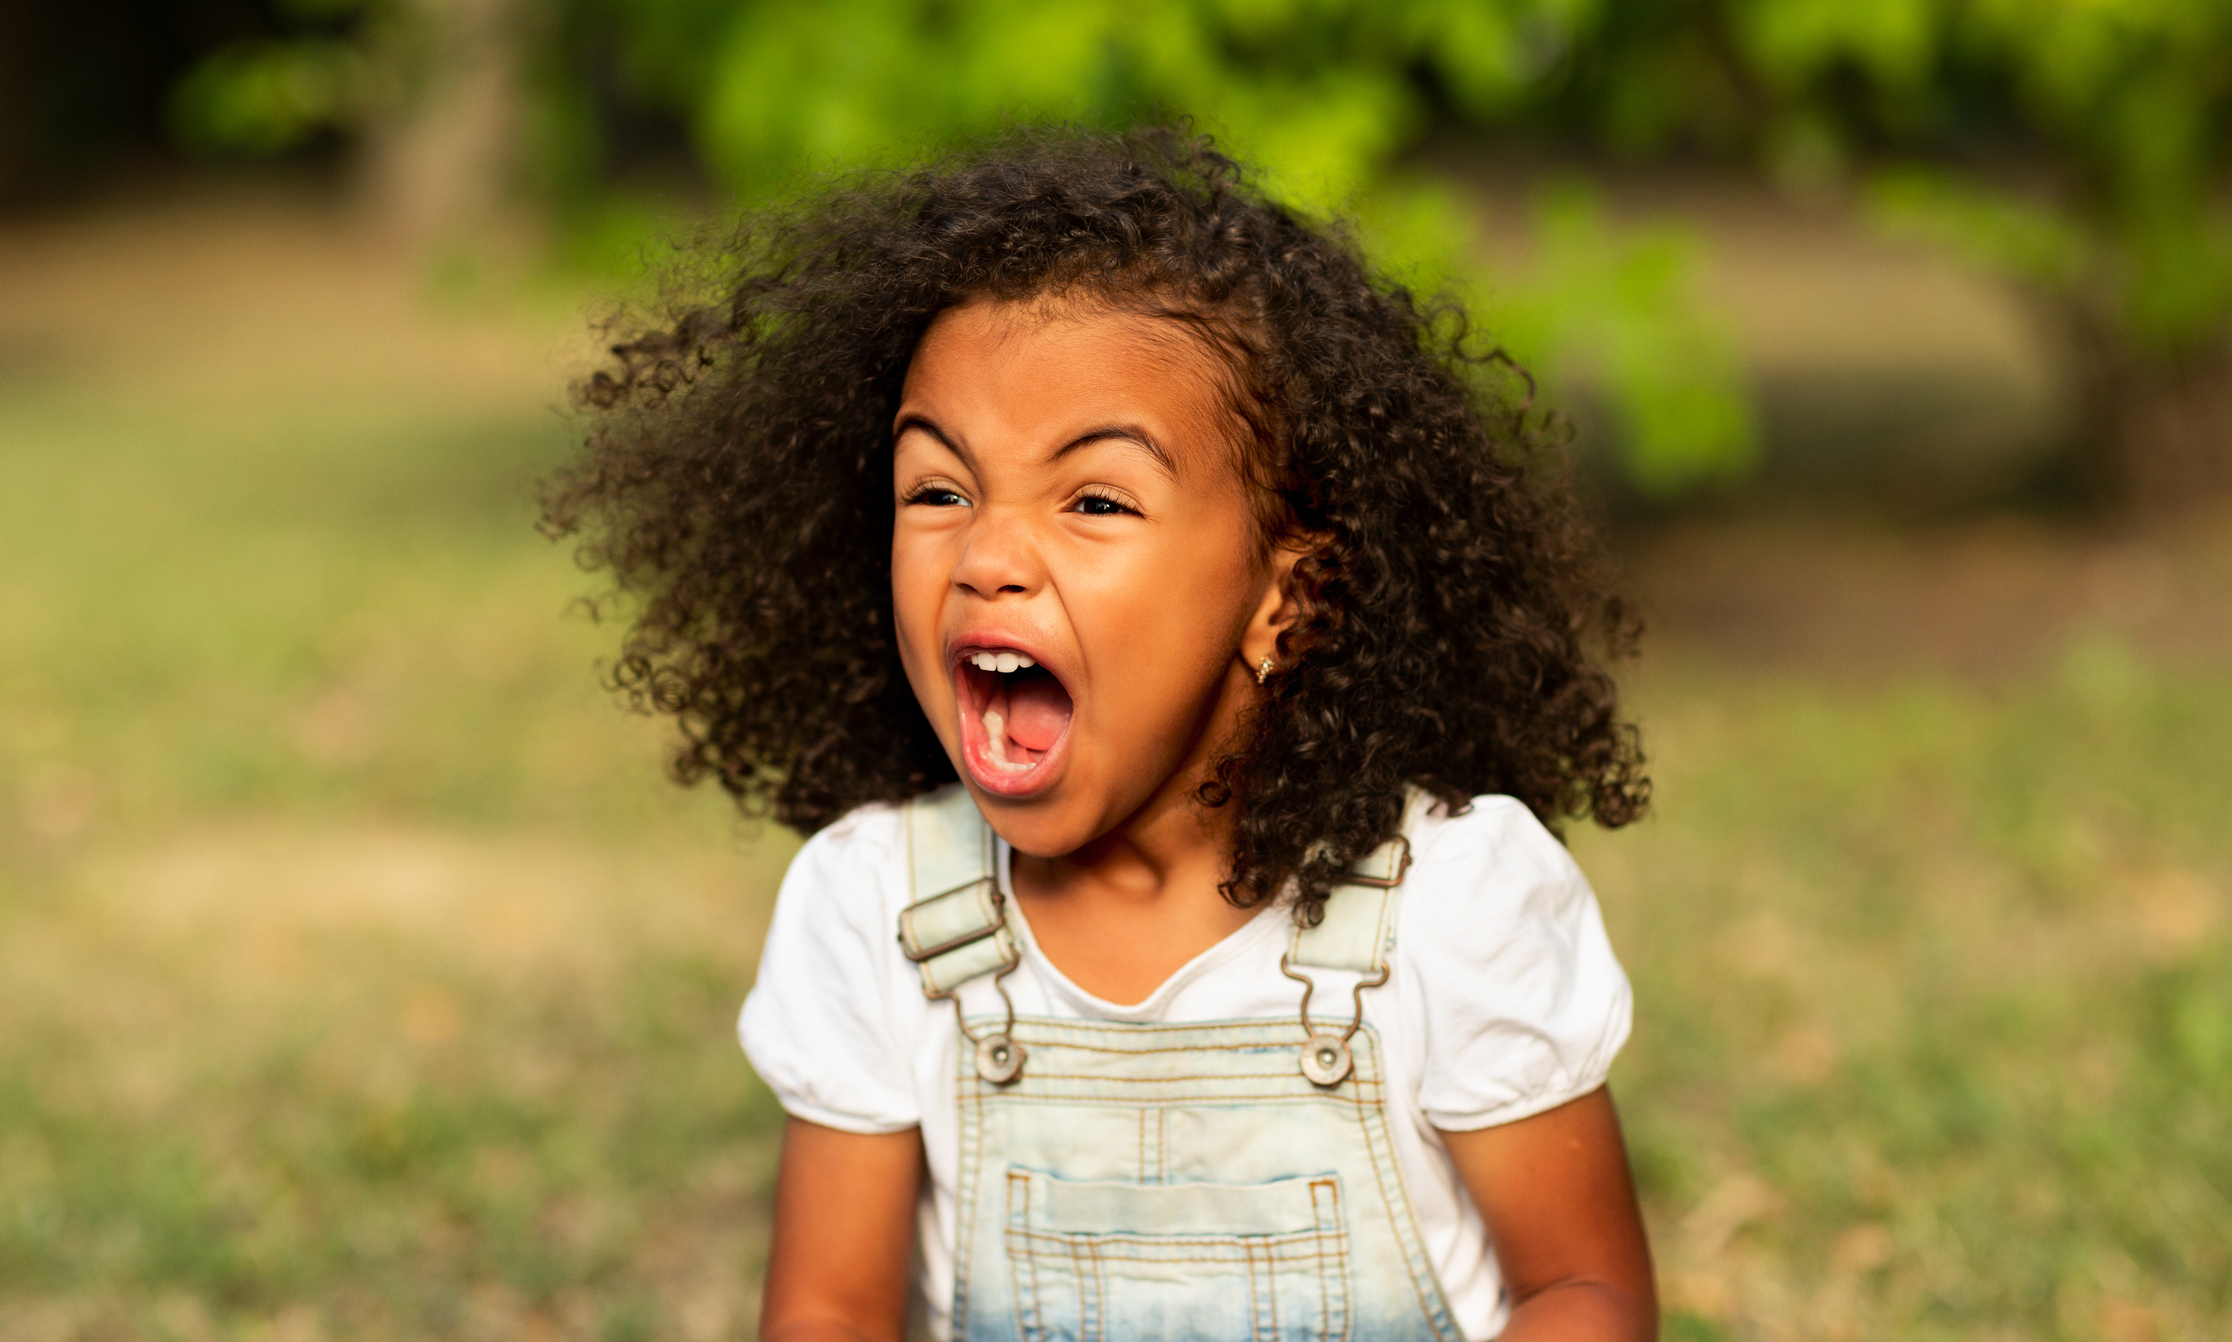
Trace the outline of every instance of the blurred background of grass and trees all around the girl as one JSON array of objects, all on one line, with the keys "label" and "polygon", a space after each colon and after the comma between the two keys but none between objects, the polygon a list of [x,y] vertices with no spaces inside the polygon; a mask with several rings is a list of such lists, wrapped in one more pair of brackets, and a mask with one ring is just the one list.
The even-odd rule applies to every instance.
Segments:
[{"label": "blurred background of grass and trees all around the girl", "polygon": [[1533,366],[1667,1335],[2232,1335],[2232,9],[0,7],[0,1340],[748,1338],[795,840],[533,531],[670,239],[1185,112]]}]

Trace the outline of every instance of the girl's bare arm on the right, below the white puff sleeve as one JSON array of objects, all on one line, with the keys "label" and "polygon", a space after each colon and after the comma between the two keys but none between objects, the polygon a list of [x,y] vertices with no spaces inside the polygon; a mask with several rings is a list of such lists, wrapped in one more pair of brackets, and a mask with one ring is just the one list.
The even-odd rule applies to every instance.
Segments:
[{"label": "girl's bare arm on the right, below the white puff sleeve", "polygon": [[1502,1342],[1658,1338],[1652,1250],[1607,1087],[1442,1141],[1511,1291]]}]

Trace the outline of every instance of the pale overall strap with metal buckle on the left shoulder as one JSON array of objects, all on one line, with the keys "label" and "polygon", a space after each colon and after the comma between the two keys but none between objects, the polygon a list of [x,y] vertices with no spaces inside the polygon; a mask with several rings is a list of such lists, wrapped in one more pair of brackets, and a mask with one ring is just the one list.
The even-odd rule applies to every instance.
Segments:
[{"label": "pale overall strap with metal buckle on the left shoulder", "polygon": [[1022,951],[1007,927],[993,871],[991,826],[960,784],[906,804],[913,900],[899,913],[899,947],[942,998],[980,974],[1011,969]]}]

